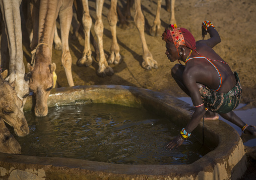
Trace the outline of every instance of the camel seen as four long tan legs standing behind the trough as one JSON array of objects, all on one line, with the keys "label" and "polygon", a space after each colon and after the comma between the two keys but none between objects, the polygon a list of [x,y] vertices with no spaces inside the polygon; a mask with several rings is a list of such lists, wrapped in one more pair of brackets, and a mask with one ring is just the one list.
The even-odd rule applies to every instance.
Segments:
[{"label": "camel seen as four long tan legs standing behind the trough", "polygon": [[[82,24],[85,32],[85,48],[83,52],[83,56],[80,60],[78,60],[78,66],[90,66],[92,64],[91,58],[91,49],[90,49],[90,29],[92,26],[92,19],[89,14],[89,6],[88,0],[81,0],[83,8],[83,18]],[[116,23],[117,23],[117,13],[116,6],[117,0],[111,0],[111,7],[109,13],[107,15],[108,23],[110,25],[111,34],[112,34],[112,45],[110,48],[110,56],[106,60],[104,49],[103,49],[103,23],[102,23],[102,7],[104,0],[96,0],[96,22],[94,26],[95,34],[98,40],[98,49],[99,49],[99,69],[97,70],[97,75],[101,77],[105,77],[106,75],[112,76],[113,69],[108,64],[118,64],[121,61],[121,56],[119,54],[119,46],[116,38]],[[141,11],[141,0],[135,1],[135,24],[139,31],[142,46],[143,46],[143,62],[142,67],[150,70],[151,68],[158,68],[157,62],[153,59],[151,52],[148,49],[145,34],[144,34],[144,16]],[[80,10],[81,11],[81,10]]]}]

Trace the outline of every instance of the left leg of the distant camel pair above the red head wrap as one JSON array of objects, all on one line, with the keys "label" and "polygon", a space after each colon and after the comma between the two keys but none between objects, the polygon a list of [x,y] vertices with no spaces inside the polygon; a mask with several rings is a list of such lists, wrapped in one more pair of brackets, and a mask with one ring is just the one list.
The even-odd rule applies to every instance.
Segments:
[{"label": "left leg of the distant camel pair above the red head wrap", "polygon": [[157,1],[156,18],[153,21],[153,26],[149,30],[151,36],[161,36],[162,33],[160,20],[161,3],[162,0]]}]

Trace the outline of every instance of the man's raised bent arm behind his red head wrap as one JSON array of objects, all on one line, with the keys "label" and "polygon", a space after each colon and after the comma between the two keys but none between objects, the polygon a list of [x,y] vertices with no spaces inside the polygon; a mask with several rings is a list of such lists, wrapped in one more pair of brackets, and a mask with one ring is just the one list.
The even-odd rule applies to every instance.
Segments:
[{"label": "man's raised bent arm behind his red head wrap", "polygon": [[[209,33],[210,39],[204,40],[204,37],[205,35],[207,35],[207,33]],[[214,28],[214,26],[208,27],[207,30],[204,28],[204,26],[202,26],[202,36],[203,36],[203,40],[199,40],[197,41],[197,43],[204,43],[210,46],[211,48],[213,48],[214,46],[216,46],[221,42],[220,35],[217,32],[217,30]]]}]

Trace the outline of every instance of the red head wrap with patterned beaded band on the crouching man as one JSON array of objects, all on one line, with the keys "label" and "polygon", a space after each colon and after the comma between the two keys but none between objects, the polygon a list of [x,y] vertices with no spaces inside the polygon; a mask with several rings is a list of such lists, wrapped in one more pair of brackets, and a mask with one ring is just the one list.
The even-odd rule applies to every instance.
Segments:
[{"label": "red head wrap with patterned beaded band on the crouching man", "polygon": [[165,42],[173,43],[177,51],[180,45],[184,45],[189,49],[196,49],[194,36],[185,28],[177,28],[176,25],[169,25],[169,28],[163,32],[162,39]]}]

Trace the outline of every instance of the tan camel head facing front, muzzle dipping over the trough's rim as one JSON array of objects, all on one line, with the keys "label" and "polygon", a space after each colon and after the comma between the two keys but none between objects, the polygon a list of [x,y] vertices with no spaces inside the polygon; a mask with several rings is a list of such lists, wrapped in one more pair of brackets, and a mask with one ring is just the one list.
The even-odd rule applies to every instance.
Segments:
[{"label": "tan camel head facing front, muzzle dipping over the trough's rim", "polygon": [[29,73],[26,78],[29,79],[30,91],[34,93],[35,115],[37,117],[48,114],[47,99],[53,88],[53,72],[56,69],[55,63],[46,64],[44,62],[36,63],[33,67],[28,63]]}]

